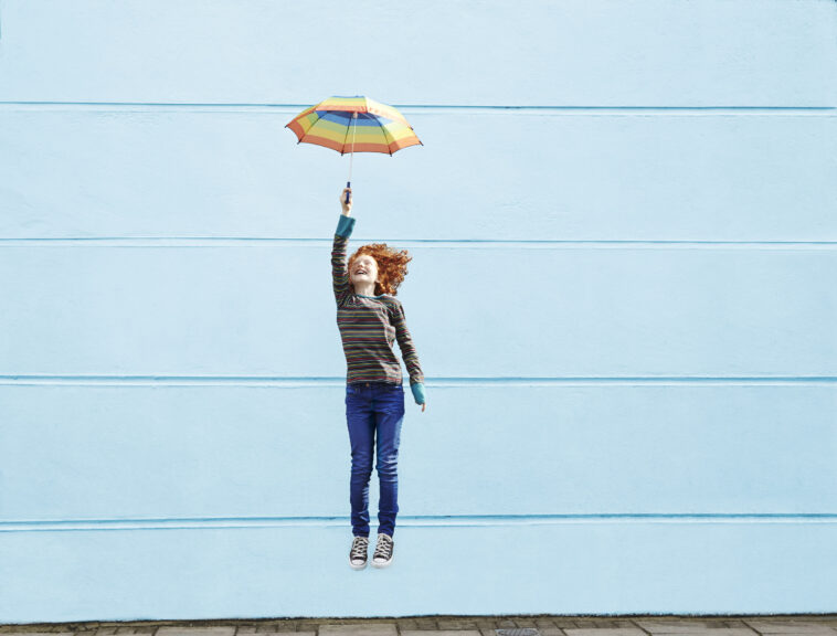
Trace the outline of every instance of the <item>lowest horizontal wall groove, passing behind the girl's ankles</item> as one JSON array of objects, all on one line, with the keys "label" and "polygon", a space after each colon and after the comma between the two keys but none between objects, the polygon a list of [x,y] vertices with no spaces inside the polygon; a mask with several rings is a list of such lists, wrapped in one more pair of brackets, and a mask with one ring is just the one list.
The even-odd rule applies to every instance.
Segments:
[{"label": "lowest horizontal wall groove, passing behind the girl's ankles", "polygon": [[[557,526],[566,523],[837,523],[835,513],[638,513],[399,516],[400,527]],[[218,528],[345,527],[349,517],[227,517],[187,519],[82,519],[2,521],[0,532],[182,530]]]}]

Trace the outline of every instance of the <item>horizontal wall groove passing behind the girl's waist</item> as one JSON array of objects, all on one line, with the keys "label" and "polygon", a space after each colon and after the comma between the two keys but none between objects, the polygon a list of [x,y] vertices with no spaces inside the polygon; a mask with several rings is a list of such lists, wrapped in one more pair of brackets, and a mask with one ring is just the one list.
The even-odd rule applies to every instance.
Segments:
[{"label": "horizontal wall groove passing behind the girl's waist", "polygon": [[[232,385],[232,386],[343,386],[346,378],[333,377],[264,377],[264,375],[0,375],[0,385]],[[498,384],[522,386],[552,385],[787,385],[787,384],[837,384],[834,375],[787,377],[563,377],[563,378],[426,378],[430,388],[441,386],[496,386]]]}]

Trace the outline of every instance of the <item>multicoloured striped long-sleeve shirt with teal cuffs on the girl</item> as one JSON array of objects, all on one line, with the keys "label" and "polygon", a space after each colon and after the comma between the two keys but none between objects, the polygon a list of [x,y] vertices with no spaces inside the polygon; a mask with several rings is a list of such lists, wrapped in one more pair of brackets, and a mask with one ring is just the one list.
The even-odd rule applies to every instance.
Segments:
[{"label": "multicoloured striped long-sleeve shirt with teal cuffs on the girl", "polygon": [[390,382],[401,385],[403,377],[394,343],[398,341],[410,374],[410,388],[424,403],[424,374],[406,327],[404,307],[394,296],[356,294],[346,267],[346,246],[354,219],[340,215],[331,248],[331,279],[337,300],[337,327],[347,363],[347,384]]}]

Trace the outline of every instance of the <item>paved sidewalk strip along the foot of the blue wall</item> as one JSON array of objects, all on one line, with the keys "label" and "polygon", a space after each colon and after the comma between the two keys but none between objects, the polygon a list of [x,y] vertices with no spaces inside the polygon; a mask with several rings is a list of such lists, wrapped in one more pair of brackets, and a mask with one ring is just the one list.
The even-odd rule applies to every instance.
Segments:
[{"label": "paved sidewalk strip along the foot of the blue wall", "polygon": [[837,636],[837,614],[770,616],[409,616],[141,621],[0,625],[0,634],[55,636]]}]

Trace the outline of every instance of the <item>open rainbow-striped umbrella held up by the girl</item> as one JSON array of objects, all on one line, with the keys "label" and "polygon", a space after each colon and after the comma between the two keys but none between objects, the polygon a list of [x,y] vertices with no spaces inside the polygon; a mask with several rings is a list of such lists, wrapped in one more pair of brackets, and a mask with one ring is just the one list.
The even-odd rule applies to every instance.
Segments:
[{"label": "open rainbow-striped umbrella held up by the girl", "polygon": [[[424,146],[415,136],[413,127],[392,106],[368,97],[329,97],[316,106],[306,108],[294,117],[285,128],[297,136],[297,144],[315,144],[349,152],[349,180],[354,152],[393,152],[410,146]],[[346,193],[349,202],[349,193]]]}]

